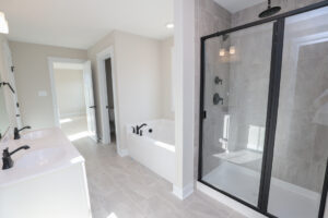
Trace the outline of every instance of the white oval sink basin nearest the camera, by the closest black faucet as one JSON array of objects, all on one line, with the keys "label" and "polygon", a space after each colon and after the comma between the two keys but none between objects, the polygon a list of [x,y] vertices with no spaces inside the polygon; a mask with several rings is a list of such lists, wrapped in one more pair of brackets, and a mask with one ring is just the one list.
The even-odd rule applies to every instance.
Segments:
[{"label": "white oval sink basin nearest the camera, by the closest black faucet", "polygon": [[38,168],[47,165],[56,165],[66,155],[63,148],[44,148],[32,150],[24,156],[20,157],[15,164],[14,168]]}]

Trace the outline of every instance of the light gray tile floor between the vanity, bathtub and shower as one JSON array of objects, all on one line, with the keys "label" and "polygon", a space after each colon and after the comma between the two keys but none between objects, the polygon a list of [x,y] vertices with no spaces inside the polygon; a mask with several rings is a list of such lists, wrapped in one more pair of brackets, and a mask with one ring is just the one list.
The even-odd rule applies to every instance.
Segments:
[{"label": "light gray tile floor between the vanity, bathtub and shower", "polygon": [[86,161],[93,218],[245,218],[198,191],[179,201],[172,184],[130,157],[119,157],[114,144],[89,137],[73,144]]}]

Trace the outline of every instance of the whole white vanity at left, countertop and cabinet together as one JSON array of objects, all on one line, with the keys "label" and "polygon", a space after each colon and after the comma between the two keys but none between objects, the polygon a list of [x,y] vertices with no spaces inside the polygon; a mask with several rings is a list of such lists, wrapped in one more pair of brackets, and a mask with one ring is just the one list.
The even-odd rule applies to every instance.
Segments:
[{"label": "whole white vanity at left, countertop and cabinet together", "polygon": [[[59,129],[34,131],[0,150],[28,145],[0,170],[0,217],[91,218],[84,158]],[[2,162],[0,164],[2,168]]]}]

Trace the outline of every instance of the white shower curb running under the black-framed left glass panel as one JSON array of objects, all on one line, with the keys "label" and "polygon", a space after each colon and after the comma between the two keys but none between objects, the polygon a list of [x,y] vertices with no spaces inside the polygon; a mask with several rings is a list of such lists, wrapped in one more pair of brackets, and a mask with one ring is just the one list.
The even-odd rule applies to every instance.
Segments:
[{"label": "white shower curb running under the black-framed left glass panel", "polygon": [[207,194],[208,196],[212,197],[213,199],[216,199],[218,202],[231,207],[232,209],[238,211],[239,214],[245,215],[246,217],[267,218],[265,215],[243,205],[242,203],[234,201],[233,198],[230,198],[229,196],[226,196],[224,194],[221,194],[220,192],[202,184],[201,182],[197,182],[197,190]]}]

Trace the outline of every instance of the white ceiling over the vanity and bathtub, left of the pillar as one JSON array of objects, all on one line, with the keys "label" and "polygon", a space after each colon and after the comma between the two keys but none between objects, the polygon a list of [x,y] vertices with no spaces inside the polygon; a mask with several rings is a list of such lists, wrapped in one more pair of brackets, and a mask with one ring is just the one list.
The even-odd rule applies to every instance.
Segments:
[{"label": "white ceiling over the vanity and bathtub, left of the pillar", "polygon": [[0,0],[9,39],[87,49],[114,29],[151,38],[173,34],[174,0]]}]

